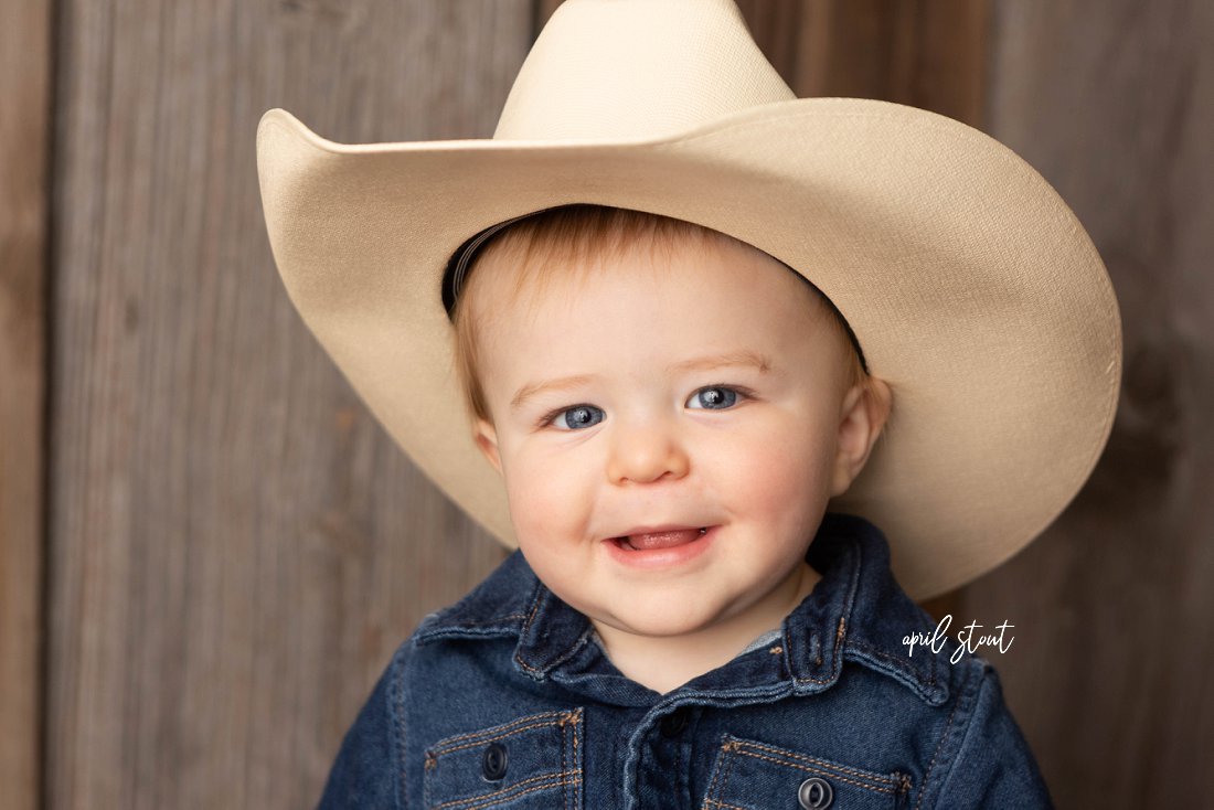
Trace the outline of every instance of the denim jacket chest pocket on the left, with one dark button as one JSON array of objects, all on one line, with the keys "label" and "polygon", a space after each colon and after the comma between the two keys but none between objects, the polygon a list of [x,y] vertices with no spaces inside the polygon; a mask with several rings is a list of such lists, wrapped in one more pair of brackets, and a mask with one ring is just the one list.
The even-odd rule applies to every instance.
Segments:
[{"label": "denim jacket chest pocket on the left, with one dark button", "polygon": [[541,712],[441,740],[426,749],[426,808],[582,810],[582,716]]}]

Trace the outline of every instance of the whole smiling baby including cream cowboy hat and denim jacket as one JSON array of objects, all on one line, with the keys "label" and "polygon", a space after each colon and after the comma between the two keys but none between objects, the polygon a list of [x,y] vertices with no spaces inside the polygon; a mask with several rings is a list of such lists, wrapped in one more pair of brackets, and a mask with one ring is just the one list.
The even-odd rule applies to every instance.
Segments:
[{"label": "whole smiling baby including cream cowboy hat and denim jacket", "polygon": [[492,140],[273,109],[257,163],[308,328],[517,542],[398,647],[322,806],[1050,806],[914,601],[1039,534],[1116,410],[1107,273],[1023,160],[796,98],[731,0],[566,0]]}]

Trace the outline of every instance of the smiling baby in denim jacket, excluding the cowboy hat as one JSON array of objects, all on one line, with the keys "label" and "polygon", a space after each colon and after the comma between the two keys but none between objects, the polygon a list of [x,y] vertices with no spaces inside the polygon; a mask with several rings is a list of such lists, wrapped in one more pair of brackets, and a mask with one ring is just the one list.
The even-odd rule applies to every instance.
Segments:
[{"label": "smiling baby in denim jacket, excluding the cowboy hat", "polygon": [[908,657],[931,618],[826,515],[892,397],[822,294],[591,205],[473,271],[459,373],[520,550],[399,648],[322,806],[1049,806],[994,670]]}]

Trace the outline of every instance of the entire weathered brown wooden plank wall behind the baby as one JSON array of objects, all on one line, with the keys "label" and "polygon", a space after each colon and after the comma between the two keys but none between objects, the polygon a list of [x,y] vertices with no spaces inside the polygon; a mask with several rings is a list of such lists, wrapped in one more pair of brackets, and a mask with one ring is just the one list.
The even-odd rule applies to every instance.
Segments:
[{"label": "entire weathered brown wooden plank wall behind the baby", "polygon": [[[555,5],[0,0],[0,806],[308,806],[396,645],[503,557],[291,308],[254,134],[285,107],[336,141],[487,137]],[[980,126],[1091,232],[1125,322],[1108,452],[930,610],[1016,624],[995,663],[1060,808],[1202,801],[1212,7],[741,6],[799,95]]]}]

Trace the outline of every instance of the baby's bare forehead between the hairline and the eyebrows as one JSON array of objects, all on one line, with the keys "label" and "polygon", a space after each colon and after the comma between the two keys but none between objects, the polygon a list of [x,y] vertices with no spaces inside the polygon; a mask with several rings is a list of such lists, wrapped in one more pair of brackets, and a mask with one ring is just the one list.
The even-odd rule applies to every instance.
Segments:
[{"label": "baby's bare forehead between the hairline and the eyebrows", "polygon": [[822,336],[817,293],[779,261],[728,238],[635,242],[531,266],[517,251],[486,259],[469,315],[490,362],[495,346],[551,357],[558,347],[533,344],[563,341],[574,351],[583,339],[599,355],[640,357],[659,346],[778,351]]}]

